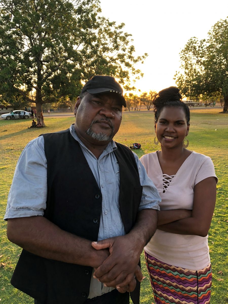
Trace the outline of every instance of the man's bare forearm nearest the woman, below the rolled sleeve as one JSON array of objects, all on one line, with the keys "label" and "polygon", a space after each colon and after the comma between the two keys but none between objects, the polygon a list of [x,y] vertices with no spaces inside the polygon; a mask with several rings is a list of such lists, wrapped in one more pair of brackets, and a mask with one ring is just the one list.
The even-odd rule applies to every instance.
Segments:
[{"label": "man's bare forearm nearest the woman, below the rolled sleeve", "polygon": [[133,236],[139,251],[150,241],[157,229],[157,210],[143,209],[138,212],[136,223],[132,230],[127,234]]}]

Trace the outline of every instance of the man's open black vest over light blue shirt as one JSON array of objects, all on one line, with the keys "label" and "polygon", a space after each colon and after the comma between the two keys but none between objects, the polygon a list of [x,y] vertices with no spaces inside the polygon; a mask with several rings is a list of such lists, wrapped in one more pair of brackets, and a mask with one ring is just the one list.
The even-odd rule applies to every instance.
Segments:
[{"label": "man's open black vest over light blue shirt", "polygon": [[[70,130],[43,134],[47,157],[47,207],[44,216],[62,230],[97,240],[102,193]],[[119,163],[119,206],[125,232],[133,227],[142,187],[131,150],[116,143]],[[118,189],[113,189],[117,191]],[[39,257],[22,250],[13,273],[14,287],[43,304],[83,303],[89,294],[92,268]],[[131,293],[139,303],[140,284]]]}]

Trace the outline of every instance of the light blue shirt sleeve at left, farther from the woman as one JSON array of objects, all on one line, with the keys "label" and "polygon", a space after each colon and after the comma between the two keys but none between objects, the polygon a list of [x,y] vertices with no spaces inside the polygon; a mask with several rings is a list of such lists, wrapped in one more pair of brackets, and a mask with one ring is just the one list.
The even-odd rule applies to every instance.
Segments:
[{"label": "light blue shirt sleeve at left, farther from the woman", "polygon": [[43,216],[47,200],[47,160],[44,140],[30,141],[16,165],[4,219]]}]

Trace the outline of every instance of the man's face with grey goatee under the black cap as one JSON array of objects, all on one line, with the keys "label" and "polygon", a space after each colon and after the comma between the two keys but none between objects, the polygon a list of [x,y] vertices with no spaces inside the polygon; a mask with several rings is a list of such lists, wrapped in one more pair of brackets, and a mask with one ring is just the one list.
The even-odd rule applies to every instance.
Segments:
[{"label": "man's face with grey goatee under the black cap", "polygon": [[122,120],[122,102],[115,93],[92,95],[86,92],[78,97],[74,107],[75,129],[91,143],[109,143],[119,130]]}]

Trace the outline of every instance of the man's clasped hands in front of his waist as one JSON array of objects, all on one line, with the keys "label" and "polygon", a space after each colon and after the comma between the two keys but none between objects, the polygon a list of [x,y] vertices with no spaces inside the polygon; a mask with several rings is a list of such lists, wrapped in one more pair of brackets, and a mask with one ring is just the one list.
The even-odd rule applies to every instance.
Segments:
[{"label": "man's clasped hands in front of his waist", "polygon": [[138,265],[143,246],[135,246],[135,241],[134,234],[127,234],[92,242],[92,247],[98,250],[93,277],[104,286],[117,288],[121,293],[132,292],[136,279],[140,282],[143,280]]}]

